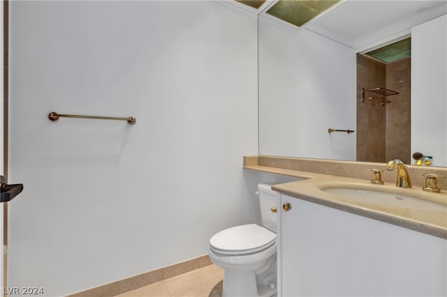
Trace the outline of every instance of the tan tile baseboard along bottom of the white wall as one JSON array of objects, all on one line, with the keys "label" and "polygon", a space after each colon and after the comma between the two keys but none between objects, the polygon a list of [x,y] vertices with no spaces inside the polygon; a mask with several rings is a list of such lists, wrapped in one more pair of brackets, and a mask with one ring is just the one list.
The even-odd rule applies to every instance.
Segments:
[{"label": "tan tile baseboard along bottom of the white wall", "polygon": [[159,268],[154,271],[148,271],[147,273],[126,277],[123,280],[117,280],[98,287],[79,291],[67,295],[66,297],[118,296],[119,294],[133,291],[135,289],[148,286],[149,284],[154,284],[155,282],[161,282],[162,280],[167,280],[170,277],[175,277],[189,271],[194,271],[198,268],[203,268],[211,264],[212,261],[210,260],[210,257],[205,254],[203,256]]}]

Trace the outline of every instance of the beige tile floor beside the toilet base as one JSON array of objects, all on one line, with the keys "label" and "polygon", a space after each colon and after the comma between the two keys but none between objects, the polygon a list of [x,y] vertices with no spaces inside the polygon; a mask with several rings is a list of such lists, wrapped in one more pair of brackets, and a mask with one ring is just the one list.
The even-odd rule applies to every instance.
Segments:
[{"label": "beige tile floor beside the toilet base", "polygon": [[214,264],[119,295],[119,297],[220,297],[223,269]]}]

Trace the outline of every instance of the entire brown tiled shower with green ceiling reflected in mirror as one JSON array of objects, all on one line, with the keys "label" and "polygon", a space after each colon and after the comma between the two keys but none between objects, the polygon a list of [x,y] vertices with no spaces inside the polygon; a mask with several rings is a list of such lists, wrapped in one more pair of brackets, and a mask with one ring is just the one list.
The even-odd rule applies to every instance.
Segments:
[{"label": "entire brown tiled shower with green ceiling reflected in mirror", "polygon": [[411,164],[409,47],[410,38],[405,38],[357,55],[358,161]]}]

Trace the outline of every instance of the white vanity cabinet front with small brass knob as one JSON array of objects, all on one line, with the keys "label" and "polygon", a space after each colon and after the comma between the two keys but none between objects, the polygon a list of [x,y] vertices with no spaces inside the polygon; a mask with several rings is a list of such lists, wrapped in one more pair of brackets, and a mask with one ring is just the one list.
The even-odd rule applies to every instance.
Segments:
[{"label": "white vanity cabinet front with small brass knob", "polygon": [[[446,296],[446,240],[280,195],[278,296]],[[291,209],[283,211],[284,204]]]}]

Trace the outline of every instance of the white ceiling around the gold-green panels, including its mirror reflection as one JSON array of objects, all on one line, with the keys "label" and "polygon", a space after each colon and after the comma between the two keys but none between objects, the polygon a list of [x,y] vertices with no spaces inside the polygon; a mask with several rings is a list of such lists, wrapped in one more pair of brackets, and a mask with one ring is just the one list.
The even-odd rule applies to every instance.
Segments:
[{"label": "white ceiling around the gold-green panels, including its mirror reflection", "polygon": [[447,13],[446,0],[342,0],[298,27],[267,13],[277,1],[281,0],[267,0],[257,9],[231,2],[294,29],[314,31],[358,52],[408,36],[412,26]]}]

